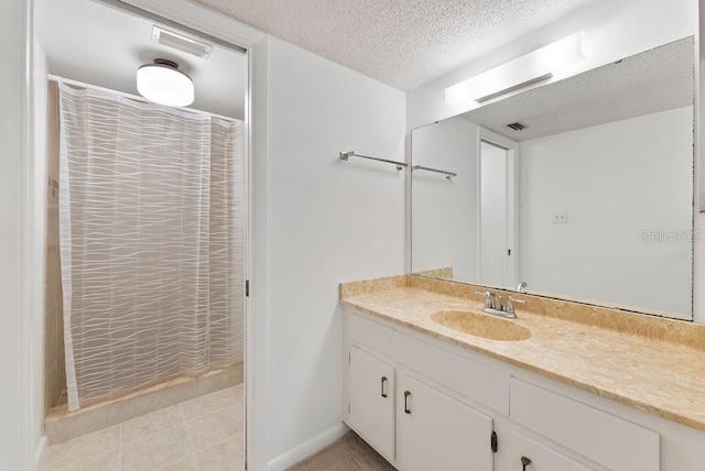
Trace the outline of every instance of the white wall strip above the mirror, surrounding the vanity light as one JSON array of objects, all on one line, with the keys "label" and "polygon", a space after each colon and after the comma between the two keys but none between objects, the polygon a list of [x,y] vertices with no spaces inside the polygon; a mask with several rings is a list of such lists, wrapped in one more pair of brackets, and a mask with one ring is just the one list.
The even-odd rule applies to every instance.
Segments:
[{"label": "white wall strip above the mirror, surrounding the vanity light", "polygon": [[[600,0],[410,91],[406,99],[408,128],[415,129],[477,108],[474,101],[446,103],[445,89],[581,31],[586,33],[583,42],[586,59],[571,68],[555,70],[549,81],[696,34],[697,28],[696,0]],[[549,81],[542,81],[540,86]]]}]

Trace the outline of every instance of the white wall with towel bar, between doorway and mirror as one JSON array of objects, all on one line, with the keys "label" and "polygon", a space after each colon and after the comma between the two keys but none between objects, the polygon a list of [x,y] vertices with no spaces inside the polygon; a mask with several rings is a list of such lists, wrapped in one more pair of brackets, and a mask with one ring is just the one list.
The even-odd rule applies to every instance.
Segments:
[{"label": "white wall with towel bar, between doorway and mirror", "polygon": [[404,267],[408,171],[338,153],[403,161],[405,97],[279,40],[267,56],[252,294],[267,325],[269,469],[284,469],[345,431],[338,283]]}]

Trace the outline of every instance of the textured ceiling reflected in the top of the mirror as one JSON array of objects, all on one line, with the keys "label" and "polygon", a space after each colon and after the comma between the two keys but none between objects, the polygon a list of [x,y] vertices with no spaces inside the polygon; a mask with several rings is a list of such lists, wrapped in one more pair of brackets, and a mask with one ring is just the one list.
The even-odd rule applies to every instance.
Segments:
[{"label": "textured ceiling reflected in the top of the mirror", "polygon": [[[514,141],[528,141],[693,105],[693,37],[686,37],[463,117]],[[516,121],[529,128],[507,128]]]}]

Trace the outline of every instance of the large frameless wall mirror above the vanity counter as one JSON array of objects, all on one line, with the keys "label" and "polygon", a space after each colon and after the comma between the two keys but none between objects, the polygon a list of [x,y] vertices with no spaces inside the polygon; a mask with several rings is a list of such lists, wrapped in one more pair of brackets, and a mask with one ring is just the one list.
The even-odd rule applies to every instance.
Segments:
[{"label": "large frameless wall mirror above the vanity counter", "polygon": [[415,129],[412,272],[692,319],[693,103],[686,37]]}]

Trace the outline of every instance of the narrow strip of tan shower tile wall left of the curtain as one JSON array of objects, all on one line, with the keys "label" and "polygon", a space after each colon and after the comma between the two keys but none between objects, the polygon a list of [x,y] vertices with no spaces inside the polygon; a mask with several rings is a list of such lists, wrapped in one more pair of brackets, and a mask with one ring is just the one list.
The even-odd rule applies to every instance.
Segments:
[{"label": "narrow strip of tan shower tile wall left of the curtain", "polygon": [[56,406],[66,387],[64,309],[58,251],[58,87],[50,81],[46,109],[46,226],[44,278],[44,415]]}]

